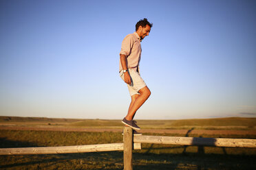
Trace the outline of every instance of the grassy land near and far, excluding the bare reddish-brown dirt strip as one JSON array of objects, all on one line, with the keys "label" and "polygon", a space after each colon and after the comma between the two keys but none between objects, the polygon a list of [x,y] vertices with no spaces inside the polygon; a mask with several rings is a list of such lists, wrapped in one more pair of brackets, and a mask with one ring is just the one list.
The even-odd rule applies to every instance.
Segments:
[{"label": "grassy land near and far, excluding the bare reddish-brown dirt strip", "polygon": [[[141,126],[149,128],[240,129],[255,130],[256,119],[194,119],[177,121],[139,120]],[[226,121],[226,122],[225,122]],[[234,123],[235,122],[235,123]],[[71,127],[118,127],[120,120],[83,120],[0,117],[6,125],[45,125]],[[50,125],[49,125],[50,123]],[[84,124],[85,123],[85,124]],[[117,124],[115,124],[117,123]],[[122,128],[122,125],[120,125]],[[219,138],[256,138],[256,134],[145,134],[161,136],[192,136]],[[54,132],[36,130],[0,130],[0,147],[50,147],[67,145],[90,145],[100,143],[122,143],[120,132]],[[255,148],[228,148],[183,145],[156,145],[142,143],[142,149],[134,151],[134,169],[256,169]],[[48,154],[24,156],[0,156],[0,169],[123,169],[122,151],[83,154]]]}]

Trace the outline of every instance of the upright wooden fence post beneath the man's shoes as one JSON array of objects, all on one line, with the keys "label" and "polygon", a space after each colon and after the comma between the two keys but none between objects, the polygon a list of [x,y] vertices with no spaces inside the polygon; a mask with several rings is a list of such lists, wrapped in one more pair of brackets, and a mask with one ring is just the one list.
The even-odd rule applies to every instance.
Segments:
[{"label": "upright wooden fence post beneath the man's shoes", "polygon": [[124,128],[124,170],[132,170],[132,147],[133,147],[133,132],[131,127]]}]

